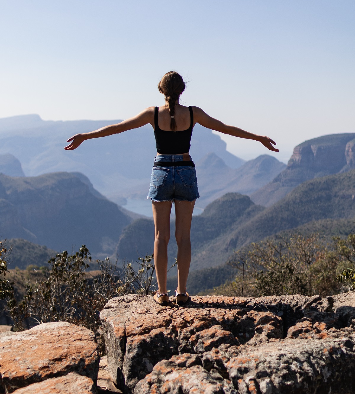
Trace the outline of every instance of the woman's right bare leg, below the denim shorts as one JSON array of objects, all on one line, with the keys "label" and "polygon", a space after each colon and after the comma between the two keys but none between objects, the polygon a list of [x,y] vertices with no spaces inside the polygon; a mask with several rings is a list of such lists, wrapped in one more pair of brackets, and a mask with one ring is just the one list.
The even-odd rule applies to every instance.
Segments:
[{"label": "woman's right bare leg, below the denim shorts", "polygon": [[175,200],[175,238],[177,243],[177,292],[185,293],[191,262],[190,229],[194,201]]}]

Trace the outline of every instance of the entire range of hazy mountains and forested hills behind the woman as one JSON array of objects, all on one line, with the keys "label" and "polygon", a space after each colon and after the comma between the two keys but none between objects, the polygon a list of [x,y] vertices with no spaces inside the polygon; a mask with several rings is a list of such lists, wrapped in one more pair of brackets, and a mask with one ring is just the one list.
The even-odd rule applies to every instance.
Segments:
[{"label": "entire range of hazy mountains and forested hills behind the woman", "polygon": [[[96,140],[95,144],[86,141],[87,146],[83,144],[78,152],[62,149],[70,134],[103,124],[107,123],[42,121],[35,115],[0,119],[6,148],[0,156],[3,238],[24,238],[46,245],[47,251],[33,249],[41,258],[47,252],[77,249],[82,243],[100,258],[118,254],[135,260],[137,252],[152,253],[153,221],[107,198],[109,193],[111,198],[137,196],[143,182],[141,194],[146,193],[155,151],[152,130],[132,130],[106,142]],[[330,236],[346,235],[354,229],[355,134],[305,141],[295,147],[287,166],[269,155],[243,162],[229,154],[225,143],[211,130],[197,127],[194,138],[195,152],[191,149],[191,154],[202,196],[198,203],[204,210],[192,219],[191,286],[191,280],[207,286],[203,275],[211,276],[216,269],[214,279],[218,281],[231,275],[229,268],[219,267],[236,249],[251,242],[293,231],[314,230]],[[59,169],[67,172],[57,172]],[[55,172],[36,174],[52,170]],[[94,179],[92,183],[86,174]],[[24,244],[26,247],[29,244]],[[169,264],[174,262],[176,251],[172,235]]]}]

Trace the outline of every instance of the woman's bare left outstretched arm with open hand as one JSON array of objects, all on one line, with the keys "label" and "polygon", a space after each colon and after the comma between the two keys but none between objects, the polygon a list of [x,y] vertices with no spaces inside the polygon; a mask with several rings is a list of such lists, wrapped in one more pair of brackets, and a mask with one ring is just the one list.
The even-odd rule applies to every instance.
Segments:
[{"label": "woman's bare left outstretched arm with open hand", "polygon": [[153,125],[154,122],[154,107],[146,108],[144,111],[134,116],[133,118],[126,119],[121,123],[116,125],[109,125],[98,130],[91,131],[89,133],[75,134],[75,136],[67,139],[67,142],[71,143],[67,145],[64,149],[67,151],[72,151],[76,149],[83,141],[91,138],[99,138],[111,136],[112,134],[119,134],[127,130],[132,130],[133,128],[138,128],[144,126],[148,123]]}]

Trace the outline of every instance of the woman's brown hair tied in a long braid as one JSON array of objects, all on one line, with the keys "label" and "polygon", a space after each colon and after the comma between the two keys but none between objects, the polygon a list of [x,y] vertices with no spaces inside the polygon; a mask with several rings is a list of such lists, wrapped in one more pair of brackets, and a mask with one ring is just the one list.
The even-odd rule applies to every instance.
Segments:
[{"label": "woman's brown hair tied in a long braid", "polygon": [[171,116],[170,130],[176,131],[175,103],[179,95],[185,90],[185,82],[181,75],[176,71],[167,72],[158,84],[160,93],[163,93],[168,102],[169,114]]}]

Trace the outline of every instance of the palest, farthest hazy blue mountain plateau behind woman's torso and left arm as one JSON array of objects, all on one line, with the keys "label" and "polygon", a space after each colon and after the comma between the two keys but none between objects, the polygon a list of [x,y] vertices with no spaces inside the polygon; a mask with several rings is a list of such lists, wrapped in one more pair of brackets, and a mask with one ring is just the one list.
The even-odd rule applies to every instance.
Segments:
[{"label": "palest, farthest hazy blue mountain plateau behind woman's torso and left arm", "polygon": [[[110,121],[44,121],[39,115],[22,115],[0,119],[2,154],[16,156],[26,176],[43,173],[80,172],[94,188],[113,201],[122,197],[143,197],[156,152],[152,127],[144,126],[122,134],[85,141],[75,151],[65,151],[69,137],[118,123]],[[193,160],[214,152],[231,168],[244,160],[227,152],[220,136],[200,125],[191,139]],[[137,190],[139,195],[137,195]]]}]

